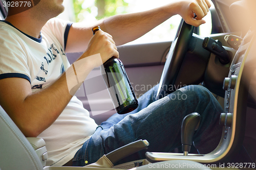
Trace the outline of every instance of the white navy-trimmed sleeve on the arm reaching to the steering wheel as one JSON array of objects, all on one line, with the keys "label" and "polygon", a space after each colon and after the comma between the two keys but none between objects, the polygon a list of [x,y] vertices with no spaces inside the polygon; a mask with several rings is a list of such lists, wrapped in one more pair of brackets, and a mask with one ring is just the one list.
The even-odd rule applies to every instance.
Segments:
[{"label": "white navy-trimmed sleeve on the arm reaching to the steering wheel", "polygon": [[71,21],[63,20],[59,18],[50,19],[44,26],[44,31],[50,31],[60,42],[61,46],[65,49],[68,39],[70,27],[72,26]]}]

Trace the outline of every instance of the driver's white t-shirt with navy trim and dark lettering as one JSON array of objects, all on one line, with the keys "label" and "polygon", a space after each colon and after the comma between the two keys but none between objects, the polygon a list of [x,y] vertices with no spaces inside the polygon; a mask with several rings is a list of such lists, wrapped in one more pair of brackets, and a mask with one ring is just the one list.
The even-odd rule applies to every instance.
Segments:
[{"label": "driver's white t-shirt with navy trim and dark lettering", "polygon": [[[65,41],[71,25],[69,21],[50,19],[37,39],[19,31],[11,23],[1,21],[0,79],[27,79],[32,92],[56,80],[70,66]],[[38,136],[46,141],[47,165],[63,165],[71,160],[96,127],[81,101],[73,96],[56,121]]]}]

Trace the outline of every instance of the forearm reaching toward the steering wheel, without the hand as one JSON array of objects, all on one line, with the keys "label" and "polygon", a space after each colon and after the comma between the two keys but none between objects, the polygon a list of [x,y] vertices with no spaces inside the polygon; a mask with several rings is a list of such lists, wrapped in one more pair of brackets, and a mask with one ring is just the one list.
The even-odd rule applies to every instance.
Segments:
[{"label": "forearm reaching toward the steering wheel, without the hand", "polygon": [[133,41],[176,15],[177,3],[148,11],[115,15],[102,20],[102,30],[113,36],[117,45]]}]

